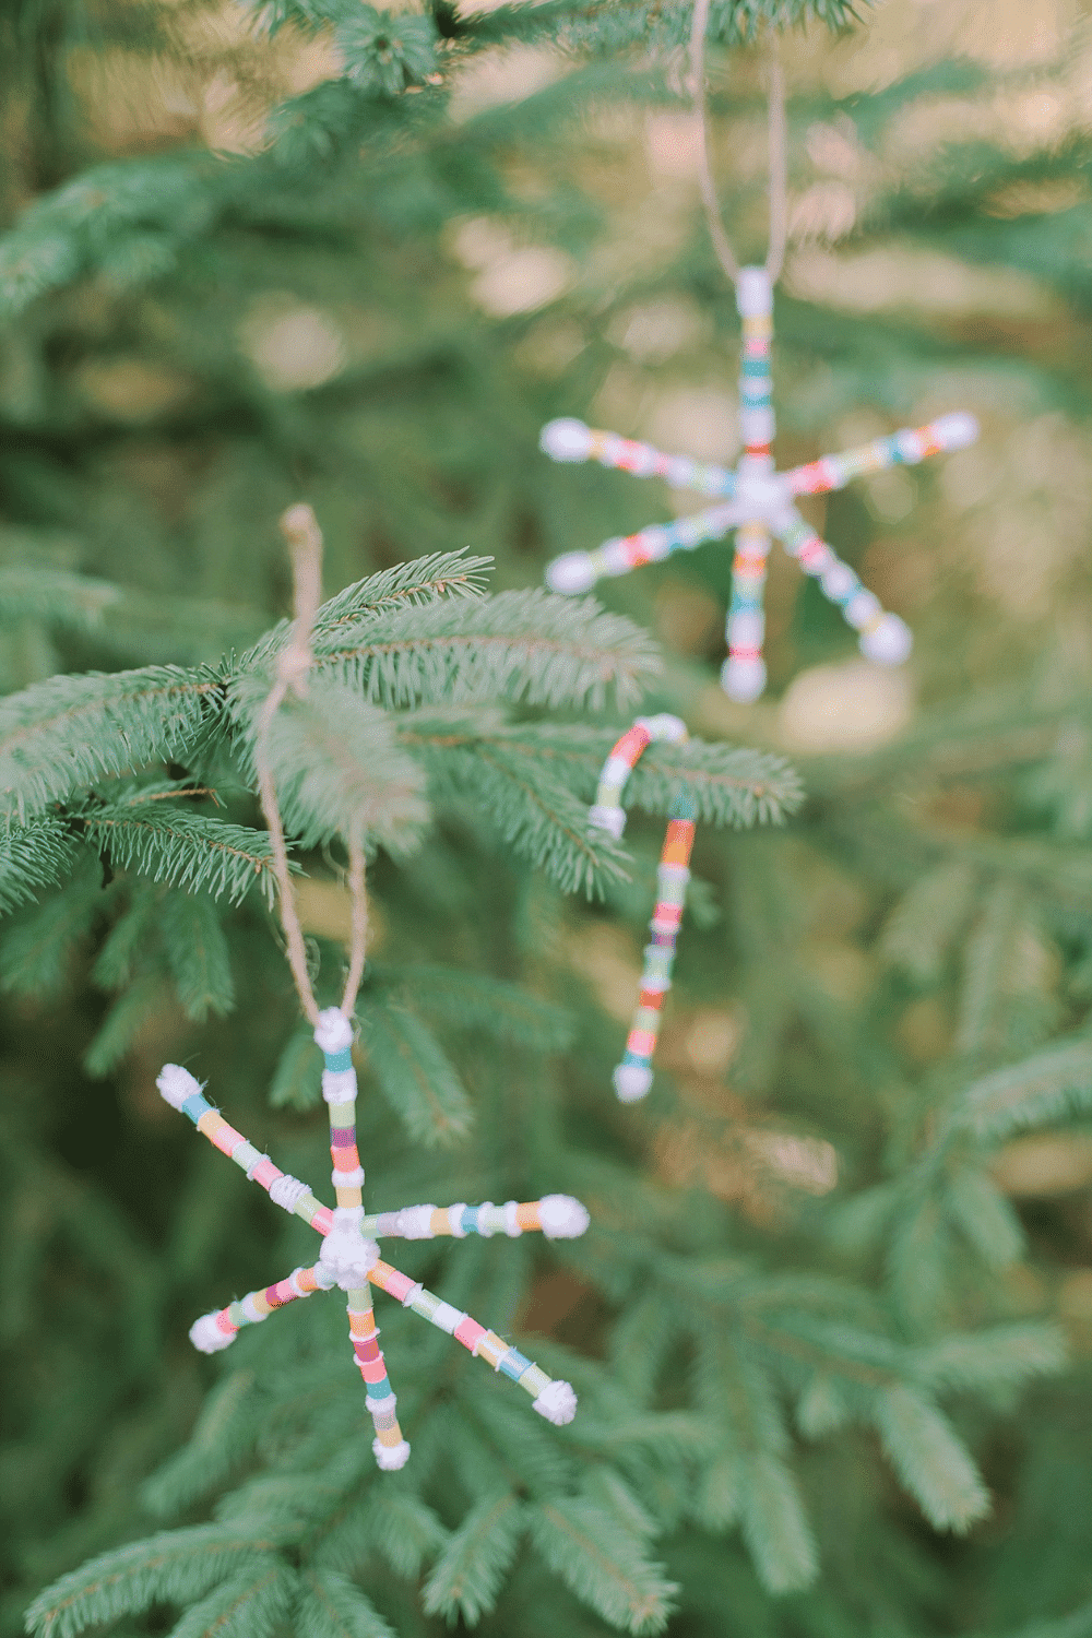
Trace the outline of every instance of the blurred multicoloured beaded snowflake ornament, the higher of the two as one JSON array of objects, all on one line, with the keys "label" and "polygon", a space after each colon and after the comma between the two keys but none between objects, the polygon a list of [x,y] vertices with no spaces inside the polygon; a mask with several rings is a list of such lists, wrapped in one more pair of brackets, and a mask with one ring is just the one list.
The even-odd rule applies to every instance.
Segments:
[{"label": "blurred multicoloured beaded snowflake ornament, the higher of the two", "polygon": [[769,452],[774,436],[769,380],[773,285],[766,270],[740,269],[735,295],[743,326],[743,454],[735,468],[702,465],[688,455],[665,455],[616,432],[598,432],[583,421],[550,421],[542,431],[542,449],[552,460],[598,460],[635,477],[666,478],[673,488],[720,496],[719,505],[679,518],[678,523],[650,524],[624,539],[604,541],[594,552],[555,557],[547,568],[547,585],[552,591],[589,591],[602,575],[625,575],[642,563],[658,562],[671,552],[691,552],[702,541],[720,541],[735,531],[729,657],[720,670],[720,686],[730,699],[751,701],[766,686],[763,586],[773,536],[805,573],[814,575],[824,595],[861,634],[861,654],[882,665],[899,665],[912,647],[904,621],[886,613],[850,565],[804,521],[794,506],[796,496],[825,495],[845,488],[853,478],[882,472],[884,467],[915,465],[927,455],[964,449],[974,442],[979,428],[971,414],[945,414],[927,426],[904,428],[861,449],[824,455],[791,472],[776,472]]}]

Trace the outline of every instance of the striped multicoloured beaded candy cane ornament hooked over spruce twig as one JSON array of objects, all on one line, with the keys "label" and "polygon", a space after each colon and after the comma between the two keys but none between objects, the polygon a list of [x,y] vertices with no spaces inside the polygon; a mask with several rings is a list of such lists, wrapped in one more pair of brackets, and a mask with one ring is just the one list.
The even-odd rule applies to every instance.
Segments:
[{"label": "striped multicoloured beaded candy cane ornament hooked over spruce twig", "polygon": [[[625,829],[622,788],[640,755],[655,742],[681,745],[686,737],[686,724],[675,716],[637,717],[602,765],[599,790],[594,806],[588,811],[588,822],[599,830],[609,830],[619,842]],[[637,1009],[625,1040],[625,1053],[612,1076],[614,1091],[624,1104],[647,1097],[652,1088],[652,1057],[660,1034],[663,998],[671,988],[675,945],[686,904],[686,885],[691,876],[689,858],[694,847],[696,817],[694,803],[681,790],[671,804],[657,868],[657,906],[648,924],[652,942],[645,945],[645,970],[640,978]]]}]

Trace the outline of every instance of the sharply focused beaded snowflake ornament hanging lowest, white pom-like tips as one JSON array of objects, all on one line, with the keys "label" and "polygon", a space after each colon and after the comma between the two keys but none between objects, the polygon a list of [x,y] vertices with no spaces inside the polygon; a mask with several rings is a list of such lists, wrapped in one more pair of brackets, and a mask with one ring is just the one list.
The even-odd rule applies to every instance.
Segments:
[{"label": "sharply focused beaded snowflake ornament hanging lowest, white pom-like tips", "polygon": [[437,1235],[453,1235],[462,1240],[468,1233],[488,1238],[494,1233],[521,1235],[540,1230],[548,1240],[570,1240],[588,1227],[588,1212],[568,1194],[547,1194],[540,1201],[506,1206],[406,1206],[398,1212],[365,1215],[362,1188],[363,1168],[357,1153],[357,1075],[352,1066],[352,1024],[341,1007],[327,1007],[319,1014],[314,1038],[323,1048],[323,1097],[329,1104],[331,1155],[334,1158],[332,1183],[337,1206],[321,1206],[306,1183],[283,1173],[268,1155],[259,1153],[241,1132],[228,1125],[224,1117],[206,1102],[200,1083],[177,1063],[164,1065],[156,1084],[174,1107],[190,1117],[198,1132],[224,1155],[229,1155],[247,1178],[267,1191],[275,1206],[303,1217],[323,1235],[318,1263],[296,1268],[287,1279],[264,1291],[250,1291],[226,1309],[203,1314],[190,1327],[190,1342],[201,1353],[228,1348],[242,1325],[255,1325],[273,1309],[282,1309],[296,1297],[309,1297],[314,1291],[331,1291],[337,1286],[345,1292],[349,1309],[349,1335],[363,1376],[365,1405],[375,1427],[372,1450],[380,1468],[401,1468],[409,1456],[409,1445],[398,1425],[396,1397],[386,1378],[386,1364],[378,1345],[378,1328],[372,1312],[372,1286],[396,1297],[404,1309],[419,1314],[485,1360],[494,1371],[503,1371],[519,1382],[534,1400],[534,1409],[547,1422],[562,1427],[576,1414],[576,1394],[563,1381],[552,1381],[545,1371],[512,1348],[496,1332],[486,1330],[468,1314],[460,1314],[449,1302],[426,1291],[408,1274],[381,1261],[378,1240],[432,1240]]}]

